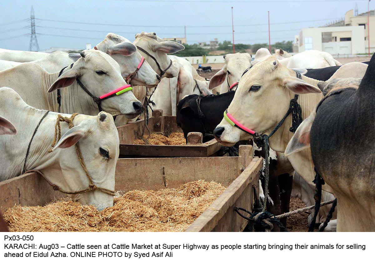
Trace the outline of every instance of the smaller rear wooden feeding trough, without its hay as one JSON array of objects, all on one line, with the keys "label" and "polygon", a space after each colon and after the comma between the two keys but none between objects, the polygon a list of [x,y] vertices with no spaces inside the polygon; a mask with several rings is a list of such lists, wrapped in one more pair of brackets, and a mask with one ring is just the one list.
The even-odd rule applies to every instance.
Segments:
[{"label": "smaller rear wooden feeding trough, without its hay", "polygon": [[[173,132],[182,132],[177,126],[175,116],[163,116],[162,110],[154,110],[148,122],[151,133],[168,136]],[[142,139],[145,120],[139,120],[118,127],[120,138],[120,157],[209,157],[217,156],[222,146],[215,139],[202,143],[202,133],[192,132],[187,136],[187,145],[136,145],[136,139]],[[147,135],[148,130],[144,130]]]}]

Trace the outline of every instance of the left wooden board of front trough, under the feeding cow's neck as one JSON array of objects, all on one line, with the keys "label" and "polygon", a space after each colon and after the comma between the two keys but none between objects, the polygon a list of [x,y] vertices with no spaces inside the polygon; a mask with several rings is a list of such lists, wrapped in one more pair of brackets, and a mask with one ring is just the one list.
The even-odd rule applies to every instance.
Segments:
[{"label": "left wooden board of front trough, under the feeding cow's neck", "polygon": [[14,205],[43,206],[55,198],[66,197],[36,173],[27,173],[0,182],[0,211]]}]

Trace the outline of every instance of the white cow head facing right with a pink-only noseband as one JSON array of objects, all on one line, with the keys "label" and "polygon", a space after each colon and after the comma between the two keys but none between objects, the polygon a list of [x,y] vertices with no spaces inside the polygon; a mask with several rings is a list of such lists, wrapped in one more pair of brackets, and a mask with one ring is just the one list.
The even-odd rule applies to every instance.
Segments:
[{"label": "white cow head facing right with a pink-only noseband", "polygon": [[[108,53],[120,65],[121,75],[127,77],[134,73],[142,56],[146,55],[137,52],[136,46],[126,38],[117,34],[109,33],[105,39],[96,45],[98,50]],[[155,87],[160,82],[160,77],[151,68],[147,61],[144,61],[135,74],[131,85],[142,85],[148,88]]]}]

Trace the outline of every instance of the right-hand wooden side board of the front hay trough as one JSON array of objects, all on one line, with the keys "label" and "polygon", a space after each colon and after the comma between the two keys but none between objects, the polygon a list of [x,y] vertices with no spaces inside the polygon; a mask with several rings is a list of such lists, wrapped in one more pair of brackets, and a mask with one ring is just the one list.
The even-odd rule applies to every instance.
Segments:
[{"label": "right-hand wooden side board of the front hay trough", "polygon": [[235,206],[252,210],[252,185],[258,182],[263,159],[254,157],[250,165],[185,231],[242,231],[247,220],[234,212]]}]

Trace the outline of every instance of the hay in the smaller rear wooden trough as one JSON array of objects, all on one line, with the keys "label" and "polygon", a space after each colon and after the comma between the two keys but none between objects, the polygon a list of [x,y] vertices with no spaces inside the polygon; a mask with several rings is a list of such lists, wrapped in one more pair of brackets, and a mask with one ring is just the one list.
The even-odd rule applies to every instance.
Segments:
[{"label": "hay in the smaller rear wooden trough", "polygon": [[184,134],[172,132],[168,137],[162,134],[151,133],[150,137],[144,135],[143,139],[136,139],[133,144],[137,145],[185,145]]}]

